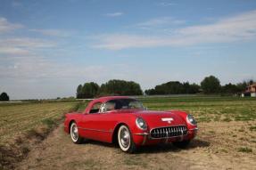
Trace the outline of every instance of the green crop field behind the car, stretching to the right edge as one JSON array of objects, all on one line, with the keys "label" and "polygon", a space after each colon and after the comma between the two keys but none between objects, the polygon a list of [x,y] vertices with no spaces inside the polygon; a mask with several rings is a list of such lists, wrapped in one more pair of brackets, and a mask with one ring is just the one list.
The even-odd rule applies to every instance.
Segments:
[{"label": "green crop field behind the car, stretching to the right edge", "polygon": [[238,97],[141,98],[145,107],[188,111],[198,122],[256,120],[256,99]]}]

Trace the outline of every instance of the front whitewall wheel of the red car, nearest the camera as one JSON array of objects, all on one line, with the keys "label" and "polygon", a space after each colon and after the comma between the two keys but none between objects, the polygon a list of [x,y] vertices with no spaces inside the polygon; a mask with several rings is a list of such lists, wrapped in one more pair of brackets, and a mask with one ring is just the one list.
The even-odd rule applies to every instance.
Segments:
[{"label": "front whitewall wheel of the red car, nearest the camera", "polygon": [[136,145],[133,142],[132,135],[127,125],[120,126],[118,132],[118,141],[121,150],[128,153],[133,153],[136,151]]}]

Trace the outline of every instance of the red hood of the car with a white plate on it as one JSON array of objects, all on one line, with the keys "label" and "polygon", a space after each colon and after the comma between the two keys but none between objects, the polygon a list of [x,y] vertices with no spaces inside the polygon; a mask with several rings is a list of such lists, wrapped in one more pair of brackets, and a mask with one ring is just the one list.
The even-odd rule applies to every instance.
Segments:
[{"label": "red hood of the car with a white plate on it", "polygon": [[186,121],[177,111],[129,110],[130,114],[142,117],[150,128],[171,125],[186,125]]}]

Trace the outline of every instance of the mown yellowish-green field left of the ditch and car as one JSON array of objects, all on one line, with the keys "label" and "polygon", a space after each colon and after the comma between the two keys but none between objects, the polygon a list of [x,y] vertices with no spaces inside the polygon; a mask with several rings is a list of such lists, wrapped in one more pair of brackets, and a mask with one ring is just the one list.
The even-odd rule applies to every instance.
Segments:
[{"label": "mown yellowish-green field left of the ditch and car", "polygon": [[0,144],[10,142],[15,136],[37,126],[60,119],[63,113],[73,109],[76,104],[74,101],[1,103]]}]

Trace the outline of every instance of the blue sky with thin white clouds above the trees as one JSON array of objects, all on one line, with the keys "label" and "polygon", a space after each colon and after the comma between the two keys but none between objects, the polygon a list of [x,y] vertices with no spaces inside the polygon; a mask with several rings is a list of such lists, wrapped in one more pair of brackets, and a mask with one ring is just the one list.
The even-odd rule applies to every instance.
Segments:
[{"label": "blue sky with thin white clouds above the trees", "polygon": [[221,84],[254,78],[256,1],[0,0],[0,92],[75,95],[78,84]]}]

